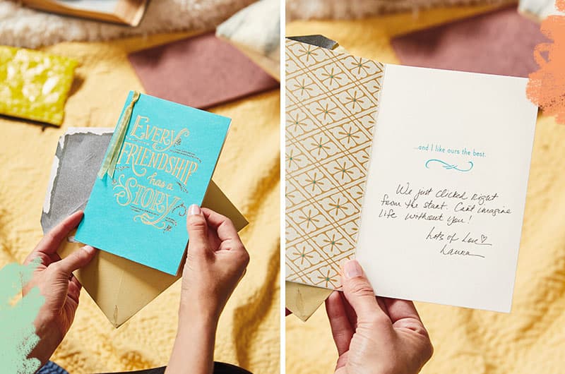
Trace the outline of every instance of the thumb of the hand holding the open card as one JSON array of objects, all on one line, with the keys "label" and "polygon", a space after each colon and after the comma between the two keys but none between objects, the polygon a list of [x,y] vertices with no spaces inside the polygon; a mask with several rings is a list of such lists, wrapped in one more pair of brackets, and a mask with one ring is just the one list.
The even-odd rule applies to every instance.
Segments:
[{"label": "thumb of the hand holding the open card", "polygon": [[376,301],[375,291],[357,260],[343,264],[341,282],[347,302],[355,310],[357,320],[372,320],[386,316]]}]

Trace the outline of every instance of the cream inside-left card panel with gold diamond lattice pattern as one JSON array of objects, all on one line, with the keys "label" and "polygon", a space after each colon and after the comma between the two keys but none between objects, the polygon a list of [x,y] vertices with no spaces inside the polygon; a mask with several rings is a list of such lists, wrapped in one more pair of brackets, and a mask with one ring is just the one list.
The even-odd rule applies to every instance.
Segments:
[{"label": "cream inside-left card panel with gold diamond lattice pattern", "polygon": [[384,66],[286,41],[286,279],[338,289],[353,258]]}]

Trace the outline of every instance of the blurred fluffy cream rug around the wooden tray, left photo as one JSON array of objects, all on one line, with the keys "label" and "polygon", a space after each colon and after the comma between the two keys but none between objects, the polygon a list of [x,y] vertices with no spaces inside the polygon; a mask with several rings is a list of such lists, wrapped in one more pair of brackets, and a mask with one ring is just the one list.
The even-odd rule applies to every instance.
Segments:
[{"label": "blurred fluffy cream rug around the wooden tray, left photo", "polygon": [[59,16],[0,0],[0,44],[35,48],[58,42],[95,42],[157,32],[214,30],[254,0],[150,1],[136,28]]}]

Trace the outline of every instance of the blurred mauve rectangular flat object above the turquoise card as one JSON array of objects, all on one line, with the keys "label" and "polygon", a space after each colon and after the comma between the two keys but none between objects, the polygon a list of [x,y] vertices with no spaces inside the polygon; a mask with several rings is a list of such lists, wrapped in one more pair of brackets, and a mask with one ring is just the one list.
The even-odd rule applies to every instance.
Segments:
[{"label": "blurred mauve rectangular flat object above the turquoise card", "polygon": [[129,61],[149,95],[198,109],[279,86],[213,32],[135,52]]}]

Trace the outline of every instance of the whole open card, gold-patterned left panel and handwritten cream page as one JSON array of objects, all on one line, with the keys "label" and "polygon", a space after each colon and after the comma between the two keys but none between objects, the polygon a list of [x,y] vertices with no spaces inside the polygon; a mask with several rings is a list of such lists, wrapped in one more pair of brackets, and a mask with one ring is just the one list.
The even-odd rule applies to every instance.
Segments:
[{"label": "whole open card, gold-patterned left panel and handwritten cream page", "polygon": [[287,280],[509,312],[537,108],[525,78],[287,40]]}]

